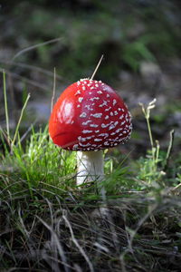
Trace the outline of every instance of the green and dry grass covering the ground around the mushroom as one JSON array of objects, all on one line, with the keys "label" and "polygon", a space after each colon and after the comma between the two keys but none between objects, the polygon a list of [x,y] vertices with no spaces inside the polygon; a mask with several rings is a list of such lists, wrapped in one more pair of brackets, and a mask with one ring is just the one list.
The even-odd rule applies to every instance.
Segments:
[{"label": "green and dry grass covering the ground around the mushroom", "polygon": [[[5,73],[4,73],[4,93]],[[6,99],[6,95],[5,95]],[[75,152],[52,144],[47,127],[19,135],[27,97],[0,151],[0,267],[2,271],[179,271],[181,265],[180,158],[173,163],[153,139],[138,160],[105,151],[106,197],[96,184],[75,185]]]}]

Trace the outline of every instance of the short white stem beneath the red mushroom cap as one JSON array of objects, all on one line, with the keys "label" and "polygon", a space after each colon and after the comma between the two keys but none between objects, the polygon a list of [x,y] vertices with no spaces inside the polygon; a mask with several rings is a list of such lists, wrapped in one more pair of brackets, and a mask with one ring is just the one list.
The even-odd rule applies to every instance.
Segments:
[{"label": "short white stem beneath the red mushroom cap", "polygon": [[104,177],[102,151],[77,151],[77,185]]}]

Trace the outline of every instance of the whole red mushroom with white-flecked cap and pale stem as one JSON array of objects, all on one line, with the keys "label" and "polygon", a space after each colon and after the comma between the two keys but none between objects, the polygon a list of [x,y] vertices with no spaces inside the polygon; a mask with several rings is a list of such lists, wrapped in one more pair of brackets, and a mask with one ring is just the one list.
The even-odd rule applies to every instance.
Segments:
[{"label": "whole red mushroom with white-flecked cap and pale stem", "polygon": [[77,152],[77,185],[102,180],[102,150],[128,141],[132,130],[127,105],[109,85],[81,79],[62,92],[49,121],[52,141]]}]

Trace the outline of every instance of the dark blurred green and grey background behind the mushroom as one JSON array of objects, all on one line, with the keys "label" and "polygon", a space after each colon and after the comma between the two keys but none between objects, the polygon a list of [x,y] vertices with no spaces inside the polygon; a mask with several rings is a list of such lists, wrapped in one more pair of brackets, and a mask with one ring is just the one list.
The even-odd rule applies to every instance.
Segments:
[{"label": "dark blurred green and grey background behind the mushroom", "polygon": [[[6,72],[10,126],[14,129],[27,93],[31,99],[22,130],[48,122],[53,73],[56,94],[90,77],[108,83],[127,102],[134,132],[119,147],[137,157],[149,148],[146,121],[138,102],[157,98],[151,112],[154,138],[165,149],[181,131],[181,3],[168,0],[5,0],[0,5],[0,68]],[[5,128],[3,73],[0,126]]]}]

